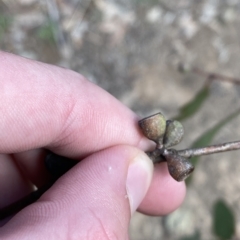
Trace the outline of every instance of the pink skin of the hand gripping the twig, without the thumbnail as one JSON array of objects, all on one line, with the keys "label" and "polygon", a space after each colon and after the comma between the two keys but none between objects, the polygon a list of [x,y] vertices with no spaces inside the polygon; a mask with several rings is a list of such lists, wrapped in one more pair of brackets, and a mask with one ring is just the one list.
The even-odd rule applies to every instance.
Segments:
[{"label": "pink skin of the hand gripping the twig, without the thumbnail", "polygon": [[[0,208],[49,179],[45,149],[81,160],[36,203],[2,222],[1,239],[128,239],[126,178],[151,143],[138,117],[76,72],[0,53]],[[104,174],[106,165],[115,172]],[[155,166],[138,207],[149,215],[175,210],[185,185],[165,163]]]}]

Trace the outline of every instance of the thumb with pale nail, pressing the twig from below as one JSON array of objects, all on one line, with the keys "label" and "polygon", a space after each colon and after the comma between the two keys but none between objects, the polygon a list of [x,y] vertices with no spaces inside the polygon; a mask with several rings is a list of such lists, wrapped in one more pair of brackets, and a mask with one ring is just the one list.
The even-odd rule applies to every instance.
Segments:
[{"label": "thumb with pale nail, pressing the twig from below", "polygon": [[0,236],[128,239],[131,214],[142,202],[152,173],[152,162],[134,147],[116,146],[95,153],[18,213]]}]

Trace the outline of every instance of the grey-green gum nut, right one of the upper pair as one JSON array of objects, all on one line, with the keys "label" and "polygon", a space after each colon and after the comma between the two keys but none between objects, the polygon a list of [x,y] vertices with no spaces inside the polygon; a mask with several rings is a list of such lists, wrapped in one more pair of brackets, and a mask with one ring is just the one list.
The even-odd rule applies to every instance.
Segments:
[{"label": "grey-green gum nut, right one of the upper pair", "polygon": [[176,120],[167,120],[166,132],[163,138],[165,148],[172,147],[181,142],[184,135],[183,125]]}]

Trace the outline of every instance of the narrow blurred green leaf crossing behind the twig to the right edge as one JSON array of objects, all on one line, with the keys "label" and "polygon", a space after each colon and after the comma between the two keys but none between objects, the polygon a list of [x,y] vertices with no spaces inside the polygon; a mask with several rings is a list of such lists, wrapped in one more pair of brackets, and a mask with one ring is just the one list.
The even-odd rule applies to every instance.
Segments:
[{"label": "narrow blurred green leaf crossing behind the twig to the right edge", "polygon": [[[228,115],[226,118],[224,118],[222,121],[217,123],[215,126],[213,126],[211,129],[209,129],[207,132],[203,133],[191,146],[191,148],[199,148],[199,147],[205,147],[209,144],[211,144],[213,138],[216,136],[216,134],[232,119],[234,119],[236,116],[240,114],[240,109],[238,109],[236,112]],[[199,157],[193,157],[191,158],[191,162],[194,166],[197,165]],[[192,176],[190,176],[186,183],[189,184],[192,180]]]}]

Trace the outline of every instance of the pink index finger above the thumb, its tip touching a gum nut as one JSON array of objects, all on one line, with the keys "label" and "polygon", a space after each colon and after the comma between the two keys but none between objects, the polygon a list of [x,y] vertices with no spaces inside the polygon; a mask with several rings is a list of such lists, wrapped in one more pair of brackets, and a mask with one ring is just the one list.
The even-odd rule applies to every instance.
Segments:
[{"label": "pink index finger above the thumb, its tip touching a gum nut", "polygon": [[48,146],[79,158],[117,144],[146,147],[137,117],[81,75],[0,53],[0,152]]}]

